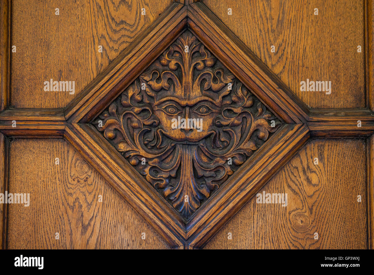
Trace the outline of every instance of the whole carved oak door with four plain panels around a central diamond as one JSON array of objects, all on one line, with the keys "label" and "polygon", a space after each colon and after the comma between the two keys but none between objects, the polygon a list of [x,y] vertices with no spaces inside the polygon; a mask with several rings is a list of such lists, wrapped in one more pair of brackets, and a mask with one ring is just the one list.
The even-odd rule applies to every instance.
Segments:
[{"label": "whole carved oak door with four plain panels around a central diamond", "polygon": [[344,2],[2,1],[1,247],[372,248]]}]

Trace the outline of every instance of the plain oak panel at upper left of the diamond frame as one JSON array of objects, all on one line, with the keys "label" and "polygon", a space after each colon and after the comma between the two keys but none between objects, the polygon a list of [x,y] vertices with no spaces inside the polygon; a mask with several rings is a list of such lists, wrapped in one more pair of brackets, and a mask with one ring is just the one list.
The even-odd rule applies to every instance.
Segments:
[{"label": "plain oak panel at upper left of the diamond frame", "polygon": [[[11,105],[65,107],[171,3],[13,1]],[[75,94],[43,91],[49,79],[75,81]]]}]

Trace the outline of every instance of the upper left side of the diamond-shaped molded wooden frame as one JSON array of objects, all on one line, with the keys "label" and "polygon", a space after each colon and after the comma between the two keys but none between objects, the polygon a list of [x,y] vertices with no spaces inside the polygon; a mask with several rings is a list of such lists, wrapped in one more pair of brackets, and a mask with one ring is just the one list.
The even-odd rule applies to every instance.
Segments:
[{"label": "upper left side of the diamond-shaped molded wooden frame", "polygon": [[[172,37],[183,28],[179,24],[187,15],[186,7],[180,3],[173,3],[150,27],[142,33],[123,51],[111,64],[88,85],[79,97],[76,98],[65,110],[65,116],[71,121],[78,122],[82,119],[82,111],[88,112],[104,95],[118,84],[120,80],[128,79],[131,83],[138,73],[144,70],[144,66],[152,62],[158,53],[152,51],[158,44],[166,46],[171,43]],[[160,49],[162,51],[162,49]],[[112,95],[116,97],[116,95]],[[108,95],[107,100],[111,97]],[[71,117],[78,109],[80,112]]]}]

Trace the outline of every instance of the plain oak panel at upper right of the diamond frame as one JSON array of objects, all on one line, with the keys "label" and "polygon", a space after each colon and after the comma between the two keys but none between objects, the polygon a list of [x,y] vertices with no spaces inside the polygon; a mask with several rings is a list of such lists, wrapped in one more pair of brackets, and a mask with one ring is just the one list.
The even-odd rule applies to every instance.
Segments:
[{"label": "plain oak panel at upper right of the diamond frame", "polygon": [[[203,3],[310,107],[365,107],[363,0]],[[319,15],[313,15],[315,8]],[[331,81],[331,94],[301,92],[306,79]]]}]

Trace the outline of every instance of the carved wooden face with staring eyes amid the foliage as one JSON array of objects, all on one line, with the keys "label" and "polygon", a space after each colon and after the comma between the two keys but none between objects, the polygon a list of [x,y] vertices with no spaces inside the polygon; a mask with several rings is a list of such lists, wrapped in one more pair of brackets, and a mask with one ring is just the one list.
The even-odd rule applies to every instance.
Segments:
[{"label": "carved wooden face with staring eyes amid the foliage", "polygon": [[175,141],[198,142],[213,132],[217,105],[208,100],[196,104],[178,101],[171,98],[154,106],[163,134]]}]

